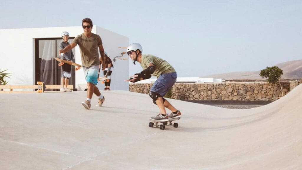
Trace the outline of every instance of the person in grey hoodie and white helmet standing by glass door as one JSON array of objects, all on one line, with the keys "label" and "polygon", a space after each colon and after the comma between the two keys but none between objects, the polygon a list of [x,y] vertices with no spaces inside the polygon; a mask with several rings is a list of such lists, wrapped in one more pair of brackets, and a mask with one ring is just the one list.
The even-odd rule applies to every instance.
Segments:
[{"label": "person in grey hoodie and white helmet standing by glass door", "polygon": [[[59,50],[63,50],[66,46],[69,45],[69,42],[68,42],[68,39],[69,39],[69,33],[67,31],[64,31],[62,32],[62,38],[63,40],[59,43]],[[72,62],[72,59],[73,59],[74,55],[72,53],[72,50],[66,52],[66,53],[61,53],[60,55],[60,58],[62,60],[67,60],[68,62]],[[68,89],[67,88],[67,85],[68,85],[68,81],[71,77],[71,65],[69,64],[64,64],[62,61],[61,61],[61,64],[63,64],[61,67],[62,67],[62,77],[61,77],[61,89],[60,91],[63,91],[63,92],[71,92],[72,90]]]}]

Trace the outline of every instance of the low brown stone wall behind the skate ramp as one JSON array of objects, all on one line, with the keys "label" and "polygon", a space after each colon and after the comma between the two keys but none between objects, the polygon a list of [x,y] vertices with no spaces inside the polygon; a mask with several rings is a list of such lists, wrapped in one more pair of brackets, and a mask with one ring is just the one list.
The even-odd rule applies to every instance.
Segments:
[{"label": "low brown stone wall behind the skate ramp", "polygon": [[[283,83],[283,94],[287,94],[302,80]],[[131,83],[132,92],[148,94],[152,83]],[[246,83],[175,83],[172,99],[178,100],[265,100],[273,101],[282,96],[279,84],[267,82]]]}]

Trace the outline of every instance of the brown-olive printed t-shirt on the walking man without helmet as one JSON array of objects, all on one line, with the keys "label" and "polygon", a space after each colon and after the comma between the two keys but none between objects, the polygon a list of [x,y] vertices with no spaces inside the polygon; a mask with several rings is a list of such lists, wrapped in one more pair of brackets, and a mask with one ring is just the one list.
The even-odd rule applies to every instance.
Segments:
[{"label": "brown-olive printed t-shirt on the walking man without helmet", "polygon": [[84,67],[98,65],[100,63],[98,46],[102,44],[102,39],[99,35],[92,33],[91,37],[86,37],[84,33],[82,33],[76,36],[73,42],[80,47],[82,65]]}]

